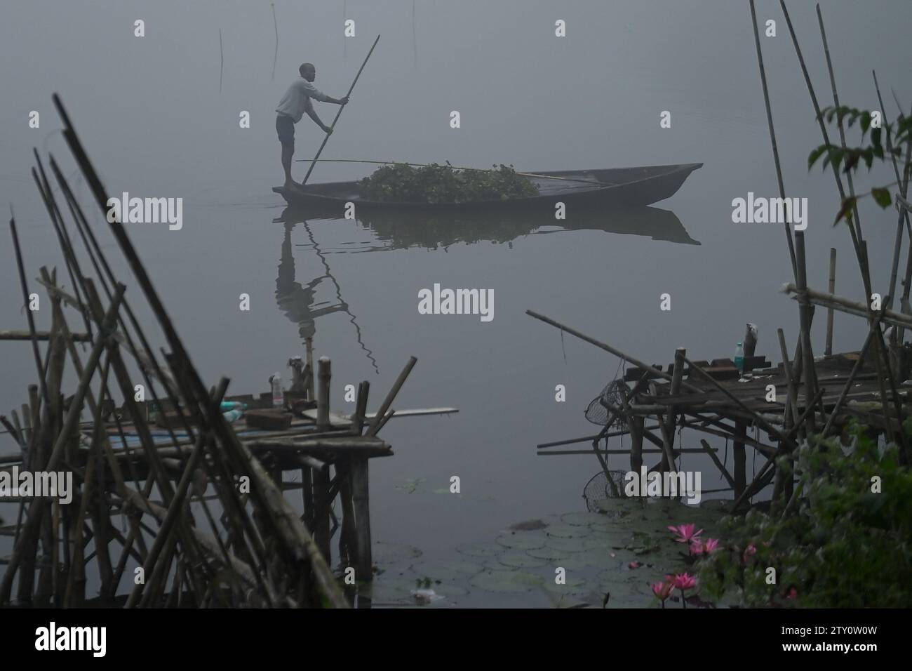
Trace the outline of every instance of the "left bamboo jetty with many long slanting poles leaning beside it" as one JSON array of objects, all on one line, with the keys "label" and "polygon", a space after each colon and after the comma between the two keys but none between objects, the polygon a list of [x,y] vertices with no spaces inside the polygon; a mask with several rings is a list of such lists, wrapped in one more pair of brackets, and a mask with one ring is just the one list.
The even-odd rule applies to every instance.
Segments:
[{"label": "left bamboo jetty with many long slanting poles leaning beside it", "polygon": [[[12,539],[0,562],[0,606],[81,606],[87,584],[97,583],[98,605],[347,607],[354,597],[330,569],[330,543],[338,530],[337,566],[371,580],[368,462],[392,454],[378,432],[394,415],[455,408],[397,414],[412,357],[375,412],[365,381],[355,412],[334,413],[331,362],[314,361],[309,339],[306,358],[289,360],[293,381],[281,400],[227,395],[227,378],[203,383],[124,226],[105,216],[104,186],[56,96],[55,104],[140,293],[128,297],[109,261],[112,245],[99,242],[54,157],[52,187],[36,152],[32,174],[68,281],[64,288],[56,268],[42,267],[50,329],[37,330],[25,309],[28,330],[3,332],[2,340],[31,342],[37,383],[21,408],[0,415],[14,450],[0,455],[0,474],[70,478],[72,500],[23,491],[0,498],[18,508],[0,527],[0,541]],[[36,294],[15,218],[10,232],[27,306]],[[161,333],[140,327],[134,308]],[[162,338],[167,350],[151,344]],[[231,401],[238,405],[224,412]],[[298,482],[285,479],[289,470]],[[292,488],[301,490],[303,515],[285,497]]]}]

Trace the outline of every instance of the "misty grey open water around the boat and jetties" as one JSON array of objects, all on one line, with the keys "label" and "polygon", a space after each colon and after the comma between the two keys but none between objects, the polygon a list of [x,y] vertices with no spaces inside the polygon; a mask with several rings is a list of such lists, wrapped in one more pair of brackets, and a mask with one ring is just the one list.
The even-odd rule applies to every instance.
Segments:
[{"label": "misty grey open water around the boat and jetties", "polygon": [[[562,349],[560,332],[525,316],[525,309],[662,364],[672,361],[678,346],[687,347],[693,360],[731,357],[746,321],[759,325],[757,353],[778,362],[775,330],[782,327],[793,343],[798,310],[778,293],[792,278],[782,225],[731,223],[733,198],[749,191],[778,195],[746,2],[415,5],[413,14],[411,0],[276,2],[279,47],[271,80],[269,2],[4,3],[0,204],[15,207],[30,287],[42,300],[38,328],[47,328],[49,302],[34,280],[37,268],[57,265],[58,278],[66,273],[29,170],[33,147],[52,152],[67,174],[75,170],[51,103],[58,92],[110,194],[184,199],[181,231],[127,225],[128,233],[203,378],[215,383],[224,374],[232,379],[229,393],[261,393],[275,371],[287,381],[286,360],[304,353],[297,325],[276,305],[285,227],[272,220],[285,203],[271,192],[283,179],[275,105],[302,62],[316,64],[318,89],[341,97],[374,38],[382,36],[326,158],[513,163],[528,171],[705,163],[678,194],[656,204],[678,215],[700,246],[580,231],[524,236],[510,245],[358,253],[382,243],[356,222],[310,222],[379,368],[378,375],[346,315],[317,320],[316,355],[333,362],[334,409],[352,412],[343,388],[368,379],[369,409],[375,410],[411,354],[419,362],[394,407],[460,408],[449,417],[390,422],[382,436],[395,456],[371,463],[374,539],[445,555],[460,542],[492,538],[518,519],[583,509],[582,488],[598,471],[591,456],[538,457],[534,446],[596,433],[582,412],[614,377],[617,359],[570,336]],[[814,5],[789,5],[825,107],[832,100]],[[890,87],[904,105],[912,102],[912,5],[824,2],[823,10],[841,101],[876,109],[876,68],[886,117],[895,119]],[[343,37],[343,15],[356,21],[357,37]],[[145,37],[133,36],[138,18],[145,21]],[[567,26],[563,38],[554,37],[559,18]],[[777,22],[777,37],[762,37],[762,48],[785,188],[809,198],[809,283],[825,288],[835,246],[836,292],[862,300],[848,232],[831,225],[839,207],[833,176],[806,168],[808,153],[822,141],[791,38],[778,3],[761,0],[761,26],[767,18]],[[331,123],[337,107],[315,107]],[[30,110],[40,112],[40,129],[28,128]],[[250,129],[239,128],[241,110],[251,114]],[[451,110],[461,112],[459,130],[450,128]],[[671,111],[670,129],[659,128],[662,110]],[[838,137],[835,131],[831,137]],[[856,142],[855,129],[849,137]],[[295,139],[295,158],[310,158],[322,132],[305,116]],[[374,167],[322,163],[310,181],[355,179]],[[295,163],[293,172],[302,179],[306,163]],[[892,180],[888,165],[870,175],[862,169],[856,187]],[[119,261],[88,188],[77,184],[97,234]],[[866,199],[861,217],[875,287],[886,293],[896,213],[881,212]],[[0,329],[24,330],[7,236],[0,236]],[[296,281],[321,276],[301,225],[291,240]],[[901,258],[904,267],[905,250]],[[119,275],[138,308],[138,285],[126,270]],[[419,315],[418,290],[435,282],[494,289],[494,319]],[[250,312],[238,310],[242,292],[251,296]],[[670,312],[658,309],[665,292],[672,297]],[[329,282],[318,294],[335,299]],[[76,325],[75,314],[67,315]],[[822,315],[814,325],[818,354],[824,349]],[[143,323],[163,342],[152,320]],[[834,351],[860,347],[863,320],[837,313],[835,325]],[[28,343],[3,342],[2,348],[0,412],[8,414],[26,401],[36,372]],[[565,404],[554,402],[559,383],[567,388]],[[72,389],[70,383],[67,393]],[[684,446],[699,446],[699,437],[685,435]],[[0,446],[11,451],[8,436],[2,438]],[[653,463],[656,456],[650,457]],[[610,463],[626,470],[627,456]],[[705,466],[692,456],[682,465]],[[448,487],[452,475],[461,477],[460,497],[433,493]],[[703,487],[721,487],[717,477],[706,467]],[[423,481],[414,493],[396,488],[415,478]],[[290,498],[297,505],[299,498]],[[13,509],[0,510],[7,523]]]}]

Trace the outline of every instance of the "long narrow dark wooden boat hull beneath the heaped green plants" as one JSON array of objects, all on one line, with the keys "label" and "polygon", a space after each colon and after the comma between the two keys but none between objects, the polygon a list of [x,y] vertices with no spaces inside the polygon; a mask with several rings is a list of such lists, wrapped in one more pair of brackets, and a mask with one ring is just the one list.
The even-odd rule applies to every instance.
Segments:
[{"label": "long narrow dark wooden boat hull beneath the heaped green plants", "polygon": [[[658,203],[675,194],[684,180],[702,163],[679,165],[648,165],[639,168],[608,168],[606,170],[558,170],[539,172],[541,177],[529,177],[538,186],[538,195],[508,200],[472,201],[469,203],[380,203],[361,197],[358,182],[328,182],[306,184],[299,188],[276,186],[288,204],[315,207],[324,211],[341,212],[346,203],[371,210],[443,211],[470,209],[523,209],[562,202],[605,207],[632,207]],[[550,179],[558,178],[558,179]]]}]

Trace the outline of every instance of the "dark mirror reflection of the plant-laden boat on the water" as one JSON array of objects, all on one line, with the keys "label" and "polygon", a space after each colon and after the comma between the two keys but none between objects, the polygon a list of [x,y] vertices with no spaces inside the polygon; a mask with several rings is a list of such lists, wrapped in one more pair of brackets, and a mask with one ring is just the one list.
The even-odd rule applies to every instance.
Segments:
[{"label": "dark mirror reflection of the plant-laden boat on the water", "polygon": [[[280,221],[300,222],[313,217],[312,208],[286,207]],[[688,235],[673,212],[658,207],[606,210],[579,208],[567,211],[566,219],[555,219],[554,210],[541,212],[475,212],[472,214],[358,212],[358,221],[373,231],[378,240],[392,248],[439,247],[457,243],[510,242],[517,237],[561,231],[604,231],[653,240],[700,245]]]}]

